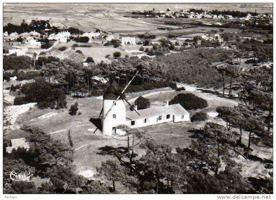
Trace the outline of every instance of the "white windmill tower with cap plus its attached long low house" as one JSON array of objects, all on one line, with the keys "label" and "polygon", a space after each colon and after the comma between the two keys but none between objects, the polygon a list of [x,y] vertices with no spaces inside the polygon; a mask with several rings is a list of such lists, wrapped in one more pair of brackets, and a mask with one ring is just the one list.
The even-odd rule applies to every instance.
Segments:
[{"label": "white windmill tower with cap plus its attached long low house", "polygon": [[[112,85],[108,87],[103,95],[102,119],[118,97],[114,88],[118,91],[116,81],[113,81]],[[137,106],[134,106],[134,109],[137,110]],[[135,111],[126,112],[125,101],[119,98],[105,119],[102,120],[102,133],[107,136],[112,136],[116,132],[119,133],[120,130],[116,130],[116,126],[122,124],[128,125],[131,128],[137,128],[169,121],[190,120],[190,113],[185,108],[180,104],[168,105],[168,101],[165,106],[138,110],[138,113],[140,115]]]}]

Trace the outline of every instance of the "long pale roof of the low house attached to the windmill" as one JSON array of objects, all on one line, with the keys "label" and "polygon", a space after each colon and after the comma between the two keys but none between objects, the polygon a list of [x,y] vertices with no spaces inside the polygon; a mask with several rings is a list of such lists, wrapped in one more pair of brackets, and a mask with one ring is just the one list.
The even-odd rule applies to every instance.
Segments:
[{"label": "long pale roof of the low house attached to the windmill", "polygon": [[161,107],[148,108],[143,110],[138,110],[138,115],[135,111],[126,112],[127,121],[145,119],[150,117],[157,117],[160,115],[173,114],[175,116],[187,115],[189,112],[185,110],[180,104],[165,105]]}]

